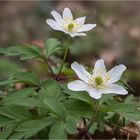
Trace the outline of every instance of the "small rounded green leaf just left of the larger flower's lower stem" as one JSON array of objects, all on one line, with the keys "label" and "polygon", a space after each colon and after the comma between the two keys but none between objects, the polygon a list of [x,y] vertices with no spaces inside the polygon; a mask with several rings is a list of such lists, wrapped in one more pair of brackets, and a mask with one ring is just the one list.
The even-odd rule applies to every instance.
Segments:
[{"label": "small rounded green leaf just left of the larger flower's lower stem", "polygon": [[65,123],[66,130],[69,134],[75,134],[77,132],[76,121],[73,119],[68,119]]}]

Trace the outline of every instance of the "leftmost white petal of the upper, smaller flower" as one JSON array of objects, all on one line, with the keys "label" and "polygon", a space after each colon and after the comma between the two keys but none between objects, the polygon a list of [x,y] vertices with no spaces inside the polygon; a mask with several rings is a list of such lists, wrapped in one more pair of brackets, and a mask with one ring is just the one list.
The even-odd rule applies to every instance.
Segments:
[{"label": "leftmost white petal of the upper, smaller flower", "polygon": [[53,28],[54,30],[58,30],[58,31],[61,31],[62,28],[58,25],[58,23],[53,20],[53,19],[47,19],[46,20],[46,23],[51,27]]}]

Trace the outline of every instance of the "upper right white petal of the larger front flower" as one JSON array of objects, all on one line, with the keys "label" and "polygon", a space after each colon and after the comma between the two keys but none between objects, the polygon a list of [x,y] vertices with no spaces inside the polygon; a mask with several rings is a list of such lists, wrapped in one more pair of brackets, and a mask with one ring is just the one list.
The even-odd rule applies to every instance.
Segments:
[{"label": "upper right white petal of the larger front flower", "polygon": [[109,77],[110,77],[108,83],[111,84],[111,83],[115,83],[118,80],[120,80],[120,78],[125,70],[126,70],[126,66],[124,66],[124,65],[119,65],[119,66],[115,66],[114,68],[112,68],[107,73],[107,75],[109,75]]}]

